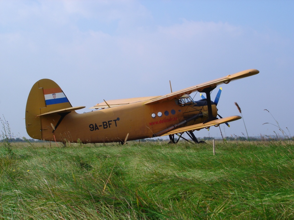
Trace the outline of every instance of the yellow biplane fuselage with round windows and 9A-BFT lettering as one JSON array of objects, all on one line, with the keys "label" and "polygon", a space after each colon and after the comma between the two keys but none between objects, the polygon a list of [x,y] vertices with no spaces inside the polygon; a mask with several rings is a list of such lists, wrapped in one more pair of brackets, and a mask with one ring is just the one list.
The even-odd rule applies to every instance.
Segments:
[{"label": "yellow biplane fuselage with round windows and 9A-BFT lettering", "polygon": [[[184,125],[201,123],[207,119],[206,101],[179,104],[178,100],[148,105],[140,101],[123,106],[78,114],[70,112],[56,127],[61,115],[42,116],[42,139],[48,141],[81,141],[83,143],[123,142],[154,137],[156,133],[191,117]],[[217,109],[213,106],[213,115]],[[49,126],[51,125],[51,126]],[[53,132],[53,128],[55,131]],[[78,140],[79,139],[79,140]]]}]

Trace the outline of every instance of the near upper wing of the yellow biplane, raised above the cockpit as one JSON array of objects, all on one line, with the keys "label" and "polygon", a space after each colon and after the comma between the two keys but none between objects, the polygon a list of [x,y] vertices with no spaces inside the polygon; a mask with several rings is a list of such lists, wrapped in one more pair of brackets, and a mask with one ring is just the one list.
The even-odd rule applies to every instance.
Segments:
[{"label": "near upper wing of the yellow biplane, raised above the cockpit", "polygon": [[244,70],[244,71],[232,74],[232,75],[227,75],[227,76],[219,78],[219,79],[211,80],[209,82],[205,82],[205,83],[202,83],[202,84],[199,84],[196,86],[188,87],[186,89],[182,89],[182,90],[179,90],[176,92],[166,94],[164,96],[160,96],[158,98],[155,98],[153,100],[148,101],[146,104],[162,102],[162,101],[171,100],[171,99],[178,99],[185,94],[187,94],[187,95],[191,94],[191,92],[195,92],[195,91],[201,92],[205,88],[209,88],[209,87],[213,88],[213,87],[216,87],[217,85],[223,84],[223,83],[228,84],[232,80],[241,79],[241,78],[252,76],[252,75],[255,75],[258,73],[259,73],[259,71],[255,70],[255,69]]}]

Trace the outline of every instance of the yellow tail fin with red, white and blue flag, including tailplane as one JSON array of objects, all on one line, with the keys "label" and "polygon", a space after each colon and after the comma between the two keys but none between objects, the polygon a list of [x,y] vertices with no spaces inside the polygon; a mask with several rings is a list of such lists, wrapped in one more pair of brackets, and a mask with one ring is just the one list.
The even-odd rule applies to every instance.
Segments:
[{"label": "yellow tail fin with red, white and blue flag, including tailplane", "polygon": [[26,103],[26,131],[34,139],[42,139],[42,116],[68,112],[80,107],[72,107],[56,82],[41,79],[36,82],[29,93]]}]

